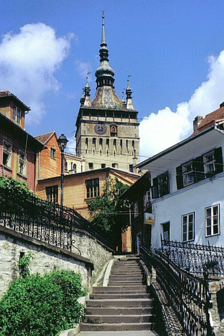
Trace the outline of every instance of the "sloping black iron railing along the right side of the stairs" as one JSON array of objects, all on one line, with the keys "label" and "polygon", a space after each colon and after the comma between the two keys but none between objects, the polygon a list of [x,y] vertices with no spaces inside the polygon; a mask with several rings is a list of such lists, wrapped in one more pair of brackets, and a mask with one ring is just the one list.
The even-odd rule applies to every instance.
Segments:
[{"label": "sloping black iron railing along the right side of the stairs", "polygon": [[[145,250],[142,246],[140,250]],[[144,252],[145,253],[145,252]],[[148,251],[148,257],[151,253]],[[140,253],[141,258],[141,253]],[[155,250],[148,261],[156,270],[156,281],[160,284],[168,303],[189,336],[214,336],[211,317],[211,294],[208,273],[196,277],[181,270],[168,256]]]}]

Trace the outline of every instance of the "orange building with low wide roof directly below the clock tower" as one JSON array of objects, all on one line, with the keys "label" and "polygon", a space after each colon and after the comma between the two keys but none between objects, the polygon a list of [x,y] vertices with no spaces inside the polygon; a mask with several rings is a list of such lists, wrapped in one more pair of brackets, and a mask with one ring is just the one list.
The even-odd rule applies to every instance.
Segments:
[{"label": "orange building with low wide roof directly below the clock tower", "polygon": [[[117,178],[124,184],[132,185],[140,176],[116,168],[101,168],[64,176],[63,205],[75,208],[83,217],[89,218],[87,200],[102,194],[107,176]],[[37,195],[42,199],[59,203],[61,187],[60,176],[39,180]],[[130,252],[130,228],[123,234],[123,251]]]}]

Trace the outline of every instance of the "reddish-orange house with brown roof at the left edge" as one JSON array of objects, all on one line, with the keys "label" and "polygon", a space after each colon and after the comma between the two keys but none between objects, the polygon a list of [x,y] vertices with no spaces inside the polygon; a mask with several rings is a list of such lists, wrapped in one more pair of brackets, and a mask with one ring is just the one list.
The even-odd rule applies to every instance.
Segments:
[{"label": "reddish-orange house with brown roof at the left edge", "polygon": [[35,191],[36,154],[44,146],[24,129],[28,111],[11,92],[0,91],[0,174],[26,182]]}]

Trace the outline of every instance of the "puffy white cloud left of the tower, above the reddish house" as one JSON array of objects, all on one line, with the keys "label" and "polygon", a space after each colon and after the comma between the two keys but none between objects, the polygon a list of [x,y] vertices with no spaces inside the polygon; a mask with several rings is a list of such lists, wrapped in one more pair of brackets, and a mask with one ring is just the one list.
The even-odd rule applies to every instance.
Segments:
[{"label": "puffy white cloud left of the tower, above the reddish house", "polygon": [[58,90],[55,71],[67,57],[73,34],[57,37],[55,30],[43,23],[27,24],[18,34],[9,32],[0,43],[0,89],[18,96],[31,112],[28,123],[40,122],[45,113],[43,96]]}]

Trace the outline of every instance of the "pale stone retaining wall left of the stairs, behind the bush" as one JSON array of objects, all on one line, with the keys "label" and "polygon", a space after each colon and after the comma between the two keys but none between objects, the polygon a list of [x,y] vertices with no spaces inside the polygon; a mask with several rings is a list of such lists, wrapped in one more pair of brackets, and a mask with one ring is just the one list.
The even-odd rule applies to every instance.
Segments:
[{"label": "pale stone retaining wall left of the stairs, behind the bush", "polygon": [[62,250],[0,226],[0,296],[19,277],[18,262],[21,252],[29,251],[34,254],[30,263],[31,273],[44,274],[52,271],[54,266],[80,272],[83,286],[90,291],[93,269],[96,273],[112,258],[112,252],[84,231],[75,231],[73,238],[81,256],[75,248],[72,252]]}]

